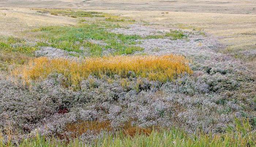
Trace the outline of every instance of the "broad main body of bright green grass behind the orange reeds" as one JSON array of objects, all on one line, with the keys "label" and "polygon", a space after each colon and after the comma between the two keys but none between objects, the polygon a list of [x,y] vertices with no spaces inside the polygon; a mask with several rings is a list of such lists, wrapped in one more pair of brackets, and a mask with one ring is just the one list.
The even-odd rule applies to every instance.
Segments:
[{"label": "broad main body of bright green grass behind the orange reeds", "polygon": [[[138,35],[123,35],[109,32],[108,29],[120,27],[118,24],[93,23],[78,24],[78,26],[48,26],[33,30],[37,38],[46,39],[50,46],[66,51],[81,53],[80,47],[89,47],[93,56],[101,55],[103,49],[114,49],[116,54],[132,54],[142,51],[135,47],[136,40],[142,39]],[[82,43],[86,39],[102,40],[107,46],[99,46],[91,43]],[[43,43],[39,44],[44,45]],[[49,46],[49,45],[46,45]],[[132,47],[134,46],[134,47]]]}]

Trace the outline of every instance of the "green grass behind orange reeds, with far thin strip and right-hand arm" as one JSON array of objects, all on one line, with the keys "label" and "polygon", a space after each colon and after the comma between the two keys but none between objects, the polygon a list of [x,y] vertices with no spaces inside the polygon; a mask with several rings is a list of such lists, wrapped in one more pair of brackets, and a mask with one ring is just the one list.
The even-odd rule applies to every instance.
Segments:
[{"label": "green grass behind orange reeds, with far thin strip and right-hand arm", "polygon": [[[74,16],[85,16],[87,14],[95,15],[102,14],[99,12],[84,12],[84,11],[72,11],[72,10],[63,10],[63,9],[54,9],[49,10],[58,12],[61,15],[74,15]],[[77,53],[83,52],[81,47],[90,48],[90,54],[93,56],[102,55],[103,50],[113,49],[116,52],[113,54],[133,54],[136,51],[143,51],[141,47],[137,47],[140,42],[140,39],[158,39],[158,38],[172,38],[172,39],[182,39],[186,36],[182,31],[170,30],[163,35],[150,35],[147,37],[141,37],[139,35],[124,35],[116,34],[109,32],[113,28],[121,27],[120,25],[123,22],[130,20],[120,19],[118,16],[107,15],[108,18],[106,21],[96,21],[94,23],[83,23],[86,22],[85,19],[79,19],[79,24],[77,26],[48,26],[34,29],[33,32],[36,38],[45,39],[49,42],[49,45],[46,43],[38,43],[38,46],[52,46],[55,48],[63,49],[66,51],[75,51]],[[121,22],[121,23],[118,23]],[[99,46],[90,43],[83,43],[84,40],[93,39],[93,40],[102,40],[107,43],[106,46]]]}]

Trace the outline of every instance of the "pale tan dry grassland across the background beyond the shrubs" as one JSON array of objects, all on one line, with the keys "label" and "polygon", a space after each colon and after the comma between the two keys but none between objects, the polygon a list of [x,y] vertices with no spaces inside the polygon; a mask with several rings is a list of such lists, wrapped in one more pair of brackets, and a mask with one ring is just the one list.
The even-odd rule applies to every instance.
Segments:
[{"label": "pale tan dry grassland across the background beyond the shrubs", "polygon": [[[13,1],[7,1],[9,3],[4,6],[12,6]],[[22,4],[22,2],[18,2]],[[210,32],[216,36],[221,36],[220,40],[223,43],[227,43],[230,47],[227,51],[237,51],[245,49],[255,48],[255,10],[253,11],[254,1],[231,1],[231,0],[221,0],[221,1],[204,1],[200,0],[200,3],[197,1],[173,1],[171,3],[162,2],[158,3],[157,1],[123,1],[123,4],[119,4],[119,1],[111,1],[105,3],[105,1],[100,2],[86,2],[75,1],[76,4],[69,4],[70,1],[62,0],[61,3],[50,2],[47,7],[74,7],[74,8],[83,8],[90,5],[90,9],[99,10],[98,12],[105,13],[116,13],[123,16],[128,16],[133,19],[142,19],[148,22],[159,23],[164,26],[172,27],[178,26],[181,28],[193,29],[193,27],[200,28]],[[154,10],[147,11],[151,8],[142,8],[142,4],[152,5]],[[24,3],[26,4],[26,3]],[[35,1],[33,5],[40,5],[38,1]],[[85,6],[85,5],[86,6]],[[172,6],[170,7],[171,12],[167,7],[162,7],[164,4]],[[173,5],[174,4],[174,5]],[[44,5],[44,4],[41,4]],[[41,6],[40,5],[40,6]],[[104,9],[101,5],[106,5],[106,7],[113,8],[115,10],[100,10]],[[124,5],[128,7],[127,11],[118,10],[121,9]],[[145,9],[144,11],[134,11],[133,7],[130,5],[137,5],[137,9]],[[197,7],[200,5],[201,7]],[[188,7],[191,6],[191,7]],[[214,6],[218,9],[212,9],[210,6]],[[44,6],[41,6],[44,7]],[[86,7],[88,8],[88,7]],[[184,10],[185,12],[178,12]],[[162,10],[162,11],[161,11]],[[39,10],[40,11],[40,10]],[[47,10],[46,10],[47,11]],[[252,13],[250,13],[252,11]],[[2,13],[6,15],[0,15],[2,19],[1,26],[4,26],[0,32],[8,32],[13,34],[15,30],[25,29],[25,27],[33,27],[37,25],[47,25],[47,24],[75,24],[74,19],[68,19],[62,16],[48,16],[31,13],[27,9],[10,9],[10,10],[1,10]],[[246,14],[248,13],[248,14]],[[5,19],[4,19],[5,18]],[[6,19],[8,18],[8,19]],[[55,19],[55,20],[54,20]],[[7,22],[4,22],[4,21]],[[27,20],[27,21],[22,21]],[[53,21],[54,20],[54,21]],[[13,22],[13,23],[12,23]],[[14,26],[14,22],[15,25]],[[29,23],[28,23],[29,22]],[[8,25],[7,25],[8,24]],[[19,27],[17,27],[17,25]],[[4,29],[3,29],[4,28]],[[7,33],[4,33],[7,34]]]}]

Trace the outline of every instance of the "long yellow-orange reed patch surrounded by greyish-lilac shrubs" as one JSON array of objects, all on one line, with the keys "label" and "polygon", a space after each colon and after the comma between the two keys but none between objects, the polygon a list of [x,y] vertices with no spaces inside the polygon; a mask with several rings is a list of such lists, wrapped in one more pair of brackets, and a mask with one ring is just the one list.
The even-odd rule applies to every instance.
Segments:
[{"label": "long yellow-orange reed patch surrounded by greyish-lilac shrubs", "polygon": [[97,57],[86,58],[84,61],[40,57],[12,71],[12,75],[30,83],[33,80],[44,80],[51,73],[60,73],[67,78],[68,85],[79,85],[89,75],[112,77],[117,74],[126,78],[129,71],[132,71],[136,77],[165,82],[185,72],[191,74],[192,70],[187,63],[185,57],[173,54]]}]

